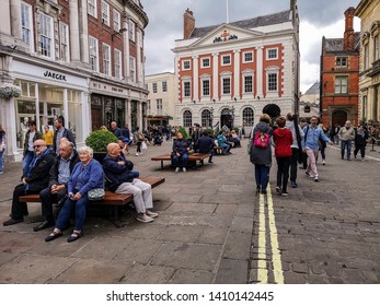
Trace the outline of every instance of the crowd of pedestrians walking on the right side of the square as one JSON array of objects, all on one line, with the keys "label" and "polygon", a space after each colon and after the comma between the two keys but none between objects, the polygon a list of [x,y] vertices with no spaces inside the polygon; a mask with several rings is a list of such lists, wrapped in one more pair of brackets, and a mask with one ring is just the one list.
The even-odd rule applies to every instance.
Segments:
[{"label": "crowd of pedestrians walking on the right side of the square", "polygon": [[[376,132],[376,128],[368,131],[364,125],[354,128],[349,120],[343,127],[335,125],[329,129],[319,123],[319,118],[315,116],[310,118],[309,123],[303,118],[299,122],[297,119],[297,116],[288,114],[286,118],[280,116],[270,125],[270,117],[264,114],[252,130],[249,154],[250,161],[254,165],[257,193],[267,192],[273,151],[277,161],[275,189],[278,195],[287,197],[289,178],[290,186],[298,187],[299,168],[304,169],[307,176],[315,183],[320,181],[318,160],[321,154],[322,165],[326,165],[325,149],[327,144],[341,144],[342,160],[346,157],[347,161],[350,161],[354,142],[354,157],[357,158],[357,154],[360,152],[361,161],[364,161],[368,139]],[[268,144],[264,141],[266,138],[269,140]]]}]

